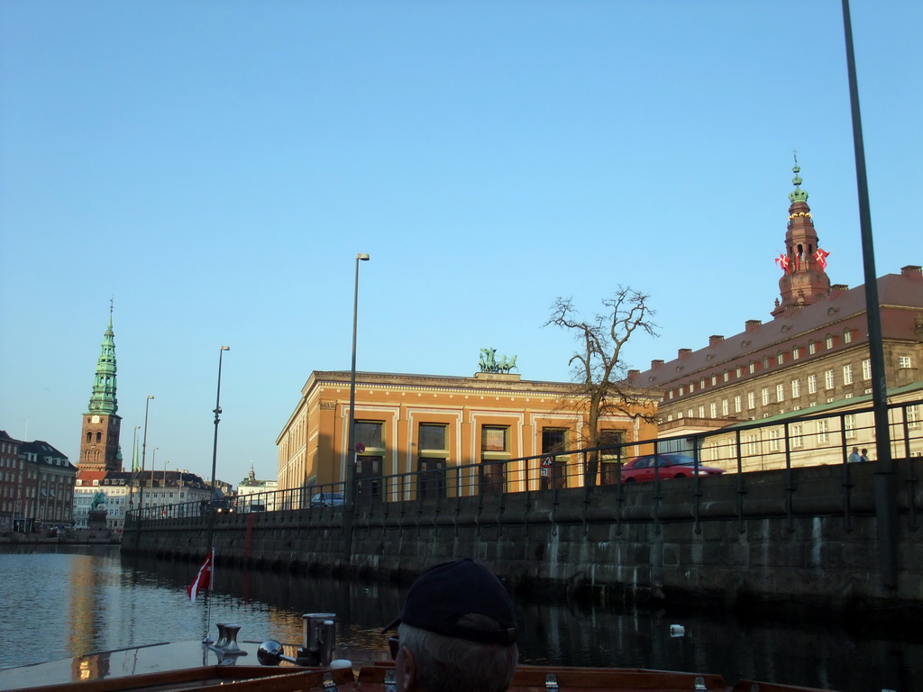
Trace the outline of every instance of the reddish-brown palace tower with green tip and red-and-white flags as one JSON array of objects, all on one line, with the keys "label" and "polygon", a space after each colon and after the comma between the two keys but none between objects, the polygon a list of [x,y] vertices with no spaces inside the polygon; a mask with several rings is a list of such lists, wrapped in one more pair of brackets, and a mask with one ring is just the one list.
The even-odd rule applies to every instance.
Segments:
[{"label": "reddish-brown palace tower with green tip and red-and-white flags", "polygon": [[795,190],[788,194],[788,230],[785,232],[785,255],[776,258],[782,268],[779,280],[781,300],[775,301],[773,317],[783,316],[815,304],[830,294],[827,255],[818,246],[817,232],[808,206],[808,193],[801,189],[798,160],[792,169]]}]

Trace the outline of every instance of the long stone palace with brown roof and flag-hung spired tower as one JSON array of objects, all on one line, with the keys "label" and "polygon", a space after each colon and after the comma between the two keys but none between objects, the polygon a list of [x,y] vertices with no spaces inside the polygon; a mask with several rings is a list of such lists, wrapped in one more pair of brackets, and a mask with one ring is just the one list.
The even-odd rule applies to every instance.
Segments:
[{"label": "long stone palace with brown roof and flag-hung spired tower", "polygon": [[[821,435],[808,434],[821,430],[820,423],[796,419],[812,408],[832,411],[869,402],[865,287],[831,283],[826,271],[830,253],[820,247],[797,159],[792,171],[795,189],[788,195],[785,254],[775,257],[782,277],[772,318],[765,323],[741,320],[743,331],[734,336],[712,334],[707,346],[680,348],[671,360],[652,359],[650,369],[629,371],[630,385],[663,392],[658,407],[661,437],[683,439],[766,418],[781,425],[790,418],[805,433],[793,444],[818,444],[812,452],[817,463],[843,462],[835,445],[824,447],[818,442]],[[879,277],[878,293],[889,400],[918,400],[923,394],[923,270],[918,264],[907,265],[899,274]],[[917,407],[909,405],[908,424],[912,419],[919,425]],[[870,446],[871,426],[855,425],[849,434]],[[736,444],[739,440],[727,447]],[[703,451],[701,460],[717,461],[718,452]]]}]

